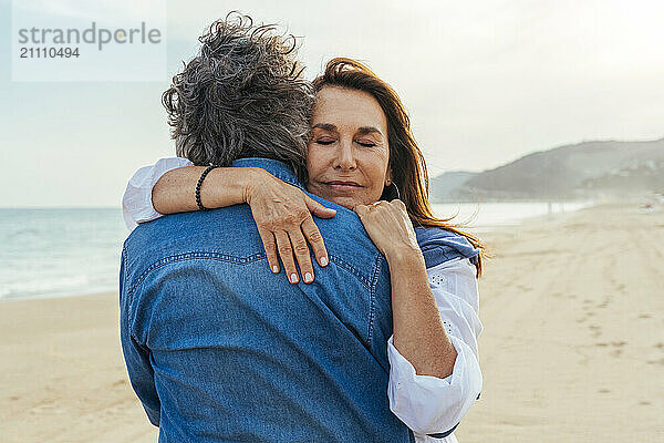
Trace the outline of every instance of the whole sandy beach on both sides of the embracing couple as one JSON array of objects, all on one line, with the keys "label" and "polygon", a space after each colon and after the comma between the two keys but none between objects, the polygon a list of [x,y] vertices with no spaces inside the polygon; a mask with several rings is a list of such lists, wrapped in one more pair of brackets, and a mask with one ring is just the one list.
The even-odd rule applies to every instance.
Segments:
[{"label": "whole sandy beach on both sides of the embracing couple", "polygon": [[[664,210],[602,205],[484,235],[470,442],[664,441]],[[0,441],[155,442],[117,295],[0,303]]]}]

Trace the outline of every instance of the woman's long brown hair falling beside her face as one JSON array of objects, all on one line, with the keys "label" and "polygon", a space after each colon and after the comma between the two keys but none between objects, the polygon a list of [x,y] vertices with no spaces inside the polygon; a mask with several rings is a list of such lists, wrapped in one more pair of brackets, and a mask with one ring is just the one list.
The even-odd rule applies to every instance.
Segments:
[{"label": "woman's long brown hair falling beside her face", "polygon": [[[415,226],[433,226],[461,235],[480,249],[477,257],[477,277],[481,276],[483,257],[487,256],[484,243],[459,229],[461,225],[448,223],[452,218],[437,218],[428,200],[428,174],[422,151],[411,130],[411,120],[396,92],[364,64],[345,58],[332,59],[325,72],[313,81],[318,93],[324,86],[338,86],[367,92],[381,105],[387,119],[390,167],[392,181],[398,187],[401,199]],[[382,199],[391,192],[386,187]]]}]

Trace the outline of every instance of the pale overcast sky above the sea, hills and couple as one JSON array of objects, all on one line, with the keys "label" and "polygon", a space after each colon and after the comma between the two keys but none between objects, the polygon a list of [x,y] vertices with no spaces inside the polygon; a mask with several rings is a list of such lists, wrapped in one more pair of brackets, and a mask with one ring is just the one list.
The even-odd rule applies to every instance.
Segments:
[{"label": "pale overcast sky above the sea, hills and couple", "polygon": [[[400,93],[432,175],[664,136],[662,1],[167,4],[169,75],[234,9],[302,37],[310,79],[333,56],[364,61]],[[159,103],[168,82],[12,82],[10,30],[0,0],[0,206],[118,206],[137,167],[174,155]]]}]

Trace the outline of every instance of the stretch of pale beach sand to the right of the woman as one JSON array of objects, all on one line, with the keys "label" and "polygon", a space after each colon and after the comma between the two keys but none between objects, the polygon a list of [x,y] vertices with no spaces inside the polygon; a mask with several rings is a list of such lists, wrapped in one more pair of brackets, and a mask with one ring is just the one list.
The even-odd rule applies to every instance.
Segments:
[{"label": "stretch of pale beach sand to the right of the woman", "polygon": [[459,442],[664,442],[664,210],[605,205],[487,239],[484,391]]}]

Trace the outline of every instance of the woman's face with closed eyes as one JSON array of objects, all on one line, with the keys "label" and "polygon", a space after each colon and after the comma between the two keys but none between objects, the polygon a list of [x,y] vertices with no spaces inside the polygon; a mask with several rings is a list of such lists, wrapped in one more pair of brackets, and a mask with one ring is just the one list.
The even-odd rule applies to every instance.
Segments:
[{"label": "woman's face with closed eyes", "polygon": [[391,183],[387,120],[369,93],[324,86],[313,106],[308,190],[353,209]]}]

